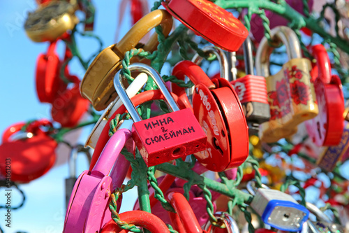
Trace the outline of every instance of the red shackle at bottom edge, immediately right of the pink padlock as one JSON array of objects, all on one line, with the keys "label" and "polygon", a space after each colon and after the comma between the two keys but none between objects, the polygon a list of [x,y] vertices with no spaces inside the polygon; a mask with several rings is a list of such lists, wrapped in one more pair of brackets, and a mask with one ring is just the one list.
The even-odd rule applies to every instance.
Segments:
[{"label": "red shackle at bottom edge, immediately right of the pink padlock", "polygon": [[[119,213],[119,217],[124,223],[144,227],[151,233],[170,233],[170,230],[168,230],[168,227],[165,225],[165,223],[163,223],[163,221],[161,221],[160,218],[145,211],[127,211],[124,213]],[[121,230],[114,220],[110,220],[101,230],[101,233],[116,232],[126,233],[128,231]]]}]

